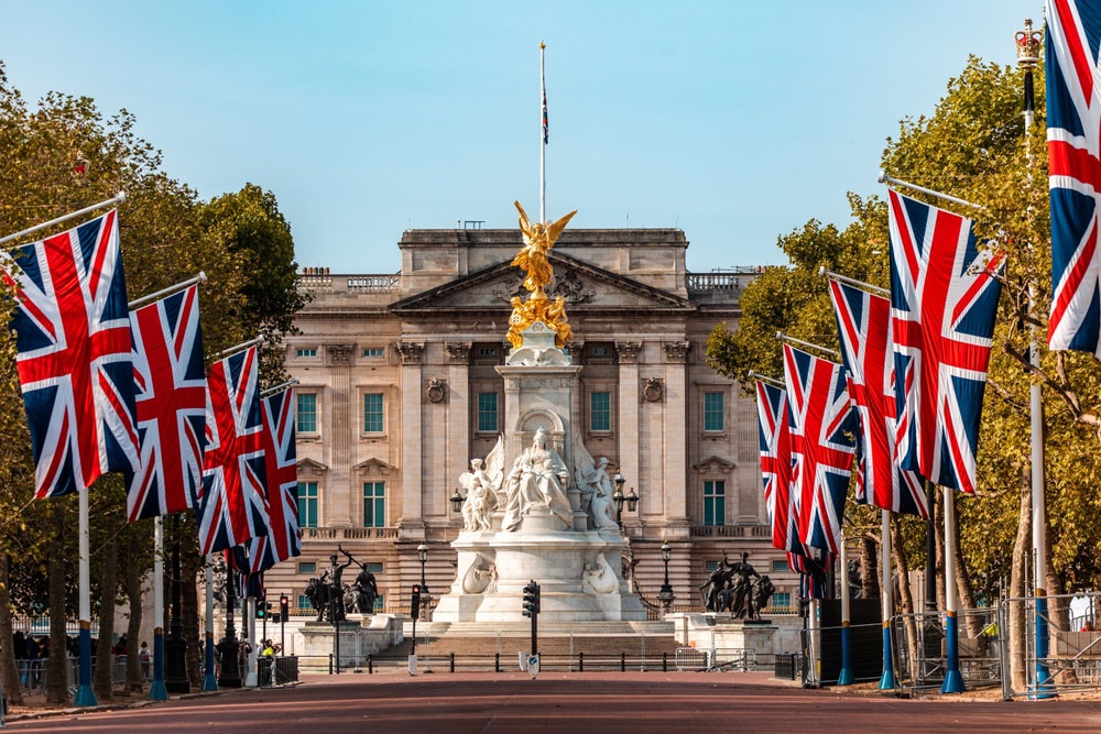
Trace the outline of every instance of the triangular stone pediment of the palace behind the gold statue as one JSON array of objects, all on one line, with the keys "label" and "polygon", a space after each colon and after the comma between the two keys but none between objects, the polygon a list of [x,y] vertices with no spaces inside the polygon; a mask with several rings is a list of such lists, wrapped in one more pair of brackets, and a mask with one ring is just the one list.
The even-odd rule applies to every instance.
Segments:
[{"label": "triangular stone pediment of the palace behind the gold statue", "polygon": [[[580,315],[588,310],[607,314],[618,309],[684,313],[696,308],[687,298],[568,255],[552,251],[549,260],[554,266],[554,278],[546,293],[552,298],[564,296],[567,314]],[[509,262],[502,262],[418,293],[390,308],[399,315],[510,311],[513,296],[527,297],[523,280],[523,271]]]}]

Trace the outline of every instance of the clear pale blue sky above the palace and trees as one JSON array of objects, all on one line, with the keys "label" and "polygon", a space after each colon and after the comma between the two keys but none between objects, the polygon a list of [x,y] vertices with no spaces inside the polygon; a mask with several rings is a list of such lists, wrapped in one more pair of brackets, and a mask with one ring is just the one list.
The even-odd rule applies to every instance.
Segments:
[{"label": "clear pale blue sky above the palace and trees", "polygon": [[[1042,0],[0,0],[0,59],[126,108],[204,198],[271,189],[301,265],[396,272],[410,228],[678,227],[688,267],[783,262],[848,221],[898,121],[969,54],[1014,64]],[[2,152],[0,152],[2,154]]]}]

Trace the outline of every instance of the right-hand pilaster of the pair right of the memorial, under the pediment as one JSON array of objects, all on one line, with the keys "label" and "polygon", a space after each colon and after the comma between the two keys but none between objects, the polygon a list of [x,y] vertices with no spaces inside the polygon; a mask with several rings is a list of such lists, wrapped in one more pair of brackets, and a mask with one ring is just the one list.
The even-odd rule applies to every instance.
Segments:
[{"label": "right-hand pilaster of the pair right of the memorial, under the pediment", "polygon": [[667,341],[665,352],[665,518],[688,534],[688,350],[687,341]]}]

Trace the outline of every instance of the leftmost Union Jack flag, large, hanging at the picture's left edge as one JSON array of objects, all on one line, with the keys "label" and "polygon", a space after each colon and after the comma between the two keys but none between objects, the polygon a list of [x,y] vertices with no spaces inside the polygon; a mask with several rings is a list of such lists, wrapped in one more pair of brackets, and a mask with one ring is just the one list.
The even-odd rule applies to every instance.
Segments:
[{"label": "leftmost Union Jack flag, large, hanging at the picture's left edge", "polygon": [[111,210],[19,248],[11,280],[19,382],[34,451],[34,496],[85,490],[138,468],[130,316]]}]

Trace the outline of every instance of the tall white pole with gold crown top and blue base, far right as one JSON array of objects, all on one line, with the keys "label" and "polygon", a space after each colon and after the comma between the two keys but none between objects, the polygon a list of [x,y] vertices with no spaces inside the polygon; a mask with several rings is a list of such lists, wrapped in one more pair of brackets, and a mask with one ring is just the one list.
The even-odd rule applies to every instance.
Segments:
[{"label": "tall white pole with gold crown top and blue base, far right", "polygon": [[[1024,118],[1025,118],[1025,160],[1028,165],[1028,183],[1032,187],[1032,151],[1028,147],[1028,135],[1035,123],[1035,102],[1033,95],[1033,68],[1039,63],[1039,45],[1042,34],[1033,32],[1032,20],[1025,20],[1025,30],[1015,34],[1017,48],[1017,66],[1024,73]],[[1036,309],[1036,284],[1028,285],[1028,313]],[[1028,346],[1028,363],[1039,372],[1039,344],[1036,343],[1036,327],[1028,327],[1032,343]],[[1033,582],[1036,596],[1036,684],[1031,697],[1034,699],[1055,698],[1051,688],[1051,673],[1045,662],[1049,654],[1047,622],[1047,504],[1044,496],[1044,398],[1040,383],[1031,381],[1028,386],[1028,410],[1032,462],[1032,536],[1033,536]]]}]

